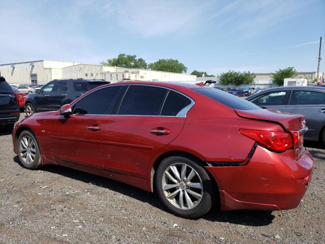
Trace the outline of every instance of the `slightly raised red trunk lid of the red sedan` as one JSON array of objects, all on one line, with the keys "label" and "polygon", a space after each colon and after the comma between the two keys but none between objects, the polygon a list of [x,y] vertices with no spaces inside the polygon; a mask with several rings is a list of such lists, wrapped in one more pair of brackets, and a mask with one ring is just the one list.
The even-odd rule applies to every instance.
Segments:
[{"label": "slightly raised red trunk lid of the red sedan", "polygon": [[243,118],[268,121],[280,125],[283,130],[290,133],[293,138],[295,160],[298,160],[304,154],[305,148],[303,135],[308,131],[308,128],[306,127],[306,121],[303,115],[290,114],[272,109],[235,109],[235,112],[238,116]]}]

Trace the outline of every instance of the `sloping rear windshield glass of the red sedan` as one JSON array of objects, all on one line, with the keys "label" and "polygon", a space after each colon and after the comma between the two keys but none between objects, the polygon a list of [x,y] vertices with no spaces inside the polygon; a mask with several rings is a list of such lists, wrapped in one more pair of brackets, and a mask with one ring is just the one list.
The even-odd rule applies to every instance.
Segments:
[{"label": "sloping rear windshield glass of the red sedan", "polygon": [[194,88],[193,90],[233,109],[240,109],[240,110],[261,109],[257,105],[248,102],[245,99],[236,97],[229,93],[222,92],[222,90],[218,90],[215,88]]}]

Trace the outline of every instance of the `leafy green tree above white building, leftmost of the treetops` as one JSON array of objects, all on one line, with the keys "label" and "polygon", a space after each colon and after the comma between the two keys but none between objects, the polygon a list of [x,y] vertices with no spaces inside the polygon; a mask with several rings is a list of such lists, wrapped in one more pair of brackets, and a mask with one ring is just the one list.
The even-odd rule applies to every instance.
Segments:
[{"label": "leafy green tree above white building, leftmost of the treetops", "polygon": [[109,58],[107,62],[103,61],[101,64],[122,68],[147,69],[147,63],[143,58],[137,58],[137,55],[125,55],[125,53],[120,53],[117,57]]}]

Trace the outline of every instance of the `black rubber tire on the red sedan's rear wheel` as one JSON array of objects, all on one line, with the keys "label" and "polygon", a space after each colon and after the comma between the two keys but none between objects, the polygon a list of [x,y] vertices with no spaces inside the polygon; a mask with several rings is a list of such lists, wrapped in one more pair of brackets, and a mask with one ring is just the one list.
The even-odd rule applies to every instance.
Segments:
[{"label": "black rubber tire on the red sedan's rear wheel", "polygon": [[[173,165],[175,164],[186,164],[188,167],[189,166],[189,170],[191,170],[190,168],[194,169],[196,171],[196,173],[198,174],[198,176],[201,178],[201,182],[202,182],[202,186],[203,186],[203,190],[199,190],[199,191],[203,191],[203,194],[201,195],[201,200],[198,200],[198,203],[194,203],[197,204],[197,206],[194,206],[191,209],[186,209],[183,210],[177,206],[174,206],[170,200],[167,199],[167,196],[165,195],[163,190],[163,177],[165,176],[165,171],[169,169],[170,166],[173,167]],[[199,218],[203,215],[205,215],[213,206],[214,203],[216,201],[216,192],[218,191],[216,184],[214,183],[213,180],[211,180],[209,174],[205,171],[205,169],[203,168],[203,166],[201,165],[202,163],[192,157],[183,157],[183,156],[172,156],[169,158],[164,159],[163,161],[161,161],[161,163],[158,166],[157,172],[155,174],[155,179],[154,179],[154,183],[155,183],[155,191],[158,194],[159,200],[161,202],[163,202],[163,204],[168,208],[169,211],[171,211],[174,215],[182,217],[182,218],[186,218],[186,219],[196,219]],[[181,167],[181,166],[179,166]],[[186,176],[188,177],[188,176]],[[194,176],[197,177],[197,176]],[[199,179],[199,178],[198,178]],[[185,181],[184,181],[185,182]],[[180,184],[182,183],[182,181],[180,181]],[[177,188],[175,188],[175,192]],[[180,188],[178,187],[178,189],[180,189],[180,191],[182,191],[183,193],[185,193],[185,191],[187,192],[188,190],[193,190],[191,188],[188,189],[188,187],[186,186],[186,189],[184,188]],[[184,189],[184,190],[181,190]],[[169,191],[169,190],[168,190]],[[186,193],[187,194],[187,193]],[[200,193],[201,194],[201,193]],[[187,194],[187,196],[189,196]],[[187,200],[186,200],[186,196],[184,195],[184,198],[186,202],[185,203],[185,208],[187,207]],[[179,205],[180,202],[180,195],[178,195],[178,203],[177,203],[177,199],[175,197],[175,202],[176,205]]]}]

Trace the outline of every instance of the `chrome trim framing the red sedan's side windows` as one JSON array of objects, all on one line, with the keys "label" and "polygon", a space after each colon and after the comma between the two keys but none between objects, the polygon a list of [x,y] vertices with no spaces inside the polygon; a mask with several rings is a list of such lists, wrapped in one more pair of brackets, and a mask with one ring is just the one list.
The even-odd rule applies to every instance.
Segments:
[{"label": "chrome trim framing the red sedan's side windows", "polygon": [[[169,87],[165,87],[165,86],[160,86],[160,85],[147,85],[147,84],[114,84],[114,85],[109,85],[109,86],[104,86],[102,88],[99,88],[99,89],[95,89],[93,90],[91,93],[87,94],[86,96],[82,97],[81,99],[79,99],[77,102],[73,103],[72,106],[74,106],[76,103],[78,103],[79,101],[81,101],[82,99],[84,99],[85,97],[87,97],[88,95],[96,92],[96,90],[100,90],[100,89],[104,89],[104,88],[107,88],[107,87],[113,87],[113,86],[125,86],[127,85],[128,87],[131,86],[131,85],[141,85],[141,86],[153,86],[153,87],[158,87],[158,88],[164,88],[164,89],[167,89],[167,90],[172,90],[173,92],[175,93],[178,93],[184,97],[186,97],[187,99],[190,100],[190,104],[187,105],[186,107],[184,107],[182,110],[180,110],[175,116],[170,116],[170,115],[139,115],[139,114],[72,114],[72,115],[87,115],[87,116],[91,116],[91,115],[94,115],[94,116],[142,116],[142,117],[183,117],[183,118],[186,118],[186,115],[188,113],[188,111],[194,106],[195,102],[192,98],[188,97],[187,95],[179,92],[178,90],[175,90],[173,88],[169,88]],[[125,93],[123,94],[123,98],[119,104],[119,107],[121,106],[122,104],[122,101],[124,99],[124,96],[128,90],[128,87],[126,88],[126,91]],[[167,98],[167,97],[166,97]],[[164,101],[164,105],[165,105],[165,101]],[[117,112],[119,111],[120,108],[118,108]]]}]

